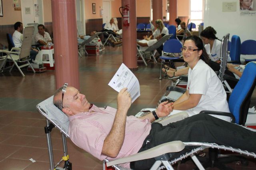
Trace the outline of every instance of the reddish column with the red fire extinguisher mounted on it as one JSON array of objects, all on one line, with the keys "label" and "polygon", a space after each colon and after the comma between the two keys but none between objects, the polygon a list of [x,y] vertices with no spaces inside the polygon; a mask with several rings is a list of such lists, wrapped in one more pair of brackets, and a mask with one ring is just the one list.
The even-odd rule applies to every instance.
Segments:
[{"label": "reddish column with the red fire extinguisher mounted on it", "polygon": [[[122,0],[122,6],[129,6],[130,26],[122,25],[123,63],[131,70],[137,70],[137,25],[136,25],[136,0]],[[122,10],[121,10],[122,11]],[[123,18],[122,18],[123,24]]]}]

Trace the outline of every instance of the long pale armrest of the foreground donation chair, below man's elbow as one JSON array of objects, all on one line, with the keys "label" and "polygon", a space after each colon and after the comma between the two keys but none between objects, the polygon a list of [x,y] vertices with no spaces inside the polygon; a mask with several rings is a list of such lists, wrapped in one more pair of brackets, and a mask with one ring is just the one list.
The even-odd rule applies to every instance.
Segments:
[{"label": "long pale armrest of the foreground donation chair, below man's elbow", "polygon": [[145,150],[143,152],[139,152],[130,156],[126,156],[124,158],[118,158],[118,159],[109,161],[107,162],[107,166],[123,164],[126,162],[132,162],[136,160],[154,158],[156,156],[160,156],[165,153],[180,152],[184,148],[185,148],[185,145],[182,141],[172,141],[168,143],[163,143],[161,145]]}]

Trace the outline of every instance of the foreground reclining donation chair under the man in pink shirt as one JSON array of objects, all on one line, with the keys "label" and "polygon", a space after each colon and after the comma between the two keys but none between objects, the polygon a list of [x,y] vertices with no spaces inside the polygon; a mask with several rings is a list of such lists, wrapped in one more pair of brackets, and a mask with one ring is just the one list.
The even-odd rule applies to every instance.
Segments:
[{"label": "foreground reclining donation chair under the man in pink shirt", "polygon": [[[53,96],[44,100],[40,104],[36,106],[37,110],[46,117],[46,127],[44,127],[44,131],[46,133],[47,137],[47,145],[48,145],[48,153],[49,153],[49,160],[50,160],[50,170],[54,170],[56,168],[54,166],[54,158],[53,158],[53,150],[52,150],[52,142],[51,142],[51,131],[54,127],[57,127],[60,132],[62,133],[62,141],[63,141],[63,150],[64,150],[64,156],[62,157],[61,161],[64,160],[64,168],[66,170],[72,169],[72,164],[69,161],[68,156],[68,150],[66,145],[66,137],[69,137],[68,135],[68,125],[69,120],[68,117],[60,111],[54,104],[52,103]],[[173,115],[175,116],[175,115]],[[176,115],[177,116],[177,115]],[[181,120],[186,118],[188,115],[180,114],[178,117],[174,117],[174,120]],[[169,123],[173,119],[172,116],[167,117],[166,119],[169,120]],[[163,119],[162,121],[164,121]],[[161,121],[159,123],[162,123]],[[167,121],[164,121],[163,125],[166,125]],[[250,129],[250,128],[248,128]],[[252,130],[252,129],[251,129]],[[186,154],[181,154],[178,158],[172,158],[171,154],[172,152],[180,152],[184,149],[186,146],[194,146],[195,149],[191,150],[190,152],[187,152]],[[237,152],[240,154],[244,154],[247,156],[253,156],[256,158],[256,154],[252,152],[247,152],[240,149],[235,149],[232,147],[225,147],[223,145],[217,145],[215,143],[195,143],[195,142],[182,142],[182,141],[172,141],[168,143],[164,143],[162,145],[156,146],[152,149],[146,150],[144,152],[140,152],[131,156],[127,156],[124,158],[119,158],[116,160],[108,161],[105,160],[107,163],[107,166],[113,166],[116,168],[116,170],[122,170],[122,167],[118,166],[117,164],[125,163],[125,162],[132,162],[136,160],[142,160],[146,158],[155,158],[156,162],[152,166],[151,170],[158,170],[158,168],[163,169],[166,167],[168,170],[173,170],[172,165],[176,164],[179,160],[185,159],[187,157],[191,157],[192,160],[195,162],[196,166],[200,170],[204,170],[204,167],[200,162],[198,161],[198,158],[195,156],[197,152],[200,150],[204,150],[206,148],[216,148],[216,149],[224,149],[224,150],[230,150],[233,152]],[[60,161],[60,162],[61,162]],[[60,163],[59,162],[59,163]],[[163,166],[162,166],[163,165]],[[104,164],[105,167],[105,164]]]}]

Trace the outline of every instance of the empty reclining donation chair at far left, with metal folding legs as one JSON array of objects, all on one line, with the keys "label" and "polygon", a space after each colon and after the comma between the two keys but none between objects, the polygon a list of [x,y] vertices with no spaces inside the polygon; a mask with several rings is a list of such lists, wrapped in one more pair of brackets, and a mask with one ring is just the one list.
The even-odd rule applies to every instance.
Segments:
[{"label": "empty reclining donation chair at far left, with metal folding legs", "polygon": [[[12,67],[10,69],[10,72],[12,71],[12,68],[16,66],[23,77],[25,75],[23,74],[22,70],[20,68],[25,66],[30,66],[33,72],[35,73],[34,68],[29,63],[30,59],[30,50],[32,45],[32,39],[33,39],[33,33],[34,33],[34,26],[26,26],[23,30],[23,41],[21,48],[15,48],[13,47],[12,50],[16,50],[18,52],[14,51],[7,51],[7,50],[0,50],[0,52],[6,53],[6,59],[11,60],[13,62]],[[18,65],[17,63],[25,63],[23,65]],[[0,67],[1,69],[1,67]]]}]

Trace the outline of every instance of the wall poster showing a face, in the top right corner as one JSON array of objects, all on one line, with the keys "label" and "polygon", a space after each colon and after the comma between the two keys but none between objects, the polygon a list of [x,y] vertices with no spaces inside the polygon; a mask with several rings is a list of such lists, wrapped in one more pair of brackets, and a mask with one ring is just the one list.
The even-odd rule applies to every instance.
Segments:
[{"label": "wall poster showing a face, in the top right corner", "polygon": [[241,16],[254,16],[256,14],[256,4],[253,0],[239,0],[239,3]]}]

